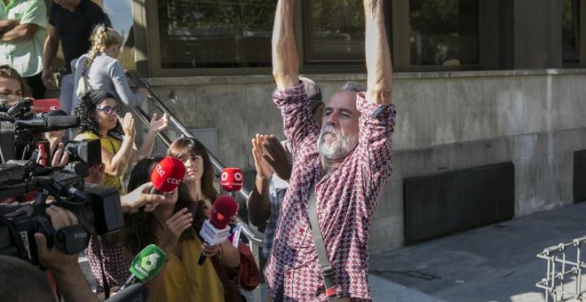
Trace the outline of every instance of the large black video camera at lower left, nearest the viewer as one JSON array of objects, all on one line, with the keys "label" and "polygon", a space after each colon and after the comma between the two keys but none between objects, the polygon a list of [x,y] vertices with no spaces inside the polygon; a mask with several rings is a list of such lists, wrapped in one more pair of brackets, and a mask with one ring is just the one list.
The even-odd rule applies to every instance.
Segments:
[{"label": "large black video camera at lower left, nearest the viewer", "polygon": [[[36,165],[36,163],[33,163]],[[56,173],[49,168],[47,175],[19,175],[28,167],[0,165],[0,175],[10,175],[0,182],[0,200],[15,195],[36,192],[35,203],[0,204],[0,254],[28,260],[38,266],[34,234],[43,233],[49,248],[74,255],[84,250],[91,234],[108,234],[123,227],[120,195],[113,187],[84,185],[83,178],[73,173]],[[36,171],[48,171],[36,167]],[[9,171],[9,173],[4,173]],[[27,179],[13,184],[13,179]],[[45,213],[47,197],[53,205],[72,211],[80,220],[75,226],[63,227],[57,232]]]}]

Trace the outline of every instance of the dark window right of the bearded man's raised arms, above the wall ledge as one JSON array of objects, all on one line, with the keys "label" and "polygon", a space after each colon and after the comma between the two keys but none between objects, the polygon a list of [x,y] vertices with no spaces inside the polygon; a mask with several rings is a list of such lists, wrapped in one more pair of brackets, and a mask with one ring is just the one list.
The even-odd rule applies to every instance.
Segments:
[{"label": "dark window right of the bearded man's raised arms, above the wall ledge", "polygon": [[478,0],[410,0],[411,65],[479,64]]}]

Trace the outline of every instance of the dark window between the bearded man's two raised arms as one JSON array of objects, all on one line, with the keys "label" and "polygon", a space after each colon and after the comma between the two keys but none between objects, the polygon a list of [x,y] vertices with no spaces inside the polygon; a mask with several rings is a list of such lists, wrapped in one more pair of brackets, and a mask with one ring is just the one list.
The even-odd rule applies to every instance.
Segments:
[{"label": "dark window between the bearded man's two raised arms", "polygon": [[356,0],[311,0],[304,5],[305,62],[364,61],[364,8]]}]

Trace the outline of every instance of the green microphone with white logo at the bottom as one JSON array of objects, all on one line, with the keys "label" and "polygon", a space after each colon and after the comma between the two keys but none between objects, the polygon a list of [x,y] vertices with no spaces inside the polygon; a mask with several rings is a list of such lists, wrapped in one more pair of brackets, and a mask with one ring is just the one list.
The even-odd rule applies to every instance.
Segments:
[{"label": "green microphone with white logo at the bottom", "polygon": [[131,268],[129,269],[131,277],[124,282],[120,290],[125,289],[137,280],[144,283],[153,279],[156,274],[159,274],[165,261],[167,261],[167,254],[161,248],[154,244],[147,245],[132,260]]}]

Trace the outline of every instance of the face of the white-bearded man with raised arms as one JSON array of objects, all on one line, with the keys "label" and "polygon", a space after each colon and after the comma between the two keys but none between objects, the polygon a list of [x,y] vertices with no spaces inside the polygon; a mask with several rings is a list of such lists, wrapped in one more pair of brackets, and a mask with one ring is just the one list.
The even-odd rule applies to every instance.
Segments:
[{"label": "face of the white-bearded man with raised arms", "polygon": [[356,92],[339,91],[329,99],[323,113],[318,151],[329,160],[343,159],[358,145]]}]

